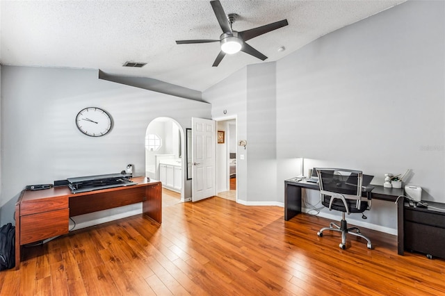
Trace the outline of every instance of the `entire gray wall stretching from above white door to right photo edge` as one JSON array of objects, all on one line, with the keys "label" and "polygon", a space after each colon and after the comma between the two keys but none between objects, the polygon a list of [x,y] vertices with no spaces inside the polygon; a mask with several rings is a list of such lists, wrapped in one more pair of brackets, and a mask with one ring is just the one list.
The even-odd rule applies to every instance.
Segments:
[{"label": "entire gray wall stretching from above white door to right photo edge", "polygon": [[[246,155],[238,199],[282,205],[284,180],[300,174],[304,157],[306,172],[355,168],[375,184],[411,169],[407,181],[425,199],[445,202],[444,19],[443,1],[408,1],[203,92],[212,117],[238,115],[238,140],[248,140],[247,150],[238,147]],[[309,203],[318,199],[307,191]],[[348,219],[395,233],[394,204],[375,200],[367,215],[366,223]]]}]

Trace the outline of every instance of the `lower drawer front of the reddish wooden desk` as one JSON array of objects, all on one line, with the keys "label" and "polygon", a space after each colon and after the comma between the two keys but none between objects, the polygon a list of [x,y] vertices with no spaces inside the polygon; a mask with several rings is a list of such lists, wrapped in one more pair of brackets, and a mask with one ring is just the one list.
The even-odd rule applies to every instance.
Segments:
[{"label": "lower drawer front of the reddish wooden desk", "polygon": [[20,217],[20,245],[68,233],[69,215],[65,208]]}]

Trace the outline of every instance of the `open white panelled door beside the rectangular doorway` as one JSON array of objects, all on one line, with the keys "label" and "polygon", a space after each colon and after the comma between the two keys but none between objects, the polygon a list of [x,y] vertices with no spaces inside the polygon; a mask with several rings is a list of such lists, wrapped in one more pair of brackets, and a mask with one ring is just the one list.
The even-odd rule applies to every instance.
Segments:
[{"label": "open white panelled door beside the rectangular doorway", "polygon": [[192,117],[192,201],[216,195],[215,145],[213,120]]}]

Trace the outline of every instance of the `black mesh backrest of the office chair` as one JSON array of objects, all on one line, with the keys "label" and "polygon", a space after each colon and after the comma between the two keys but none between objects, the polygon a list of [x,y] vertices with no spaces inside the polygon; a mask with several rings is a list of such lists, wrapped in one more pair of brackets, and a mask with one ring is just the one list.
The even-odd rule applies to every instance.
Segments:
[{"label": "black mesh backrest of the office chair", "polygon": [[362,171],[319,167],[315,170],[322,195],[339,193],[347,199],[361,199]]}]

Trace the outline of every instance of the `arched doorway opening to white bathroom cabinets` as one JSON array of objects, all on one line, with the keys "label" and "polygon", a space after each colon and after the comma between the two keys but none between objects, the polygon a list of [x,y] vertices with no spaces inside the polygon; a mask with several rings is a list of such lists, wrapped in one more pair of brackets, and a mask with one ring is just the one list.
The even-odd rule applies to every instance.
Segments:
[{"label": "arched doorway opening to white bathroom cabinets", "polygon": [[180,193],[184,201],[185,140],[181,125],[170,117],[158,117],[145,132],[145,176],[162,182],[163,188]]}]

